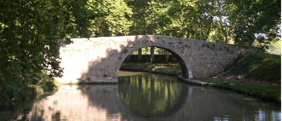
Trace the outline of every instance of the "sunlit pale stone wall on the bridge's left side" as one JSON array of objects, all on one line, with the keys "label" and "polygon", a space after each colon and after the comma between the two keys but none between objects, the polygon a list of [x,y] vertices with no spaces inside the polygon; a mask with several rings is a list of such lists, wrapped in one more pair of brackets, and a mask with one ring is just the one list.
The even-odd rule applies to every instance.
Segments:
[{"label": "sunlit pale stone wall on the bridge's left side", "polygon": [[[134,40],[133,39],[131,40]],[[128,37],[124,37],[128,38]],[[122,39],[123,40],[123,39]],[[93,77],[90,67],[93,64],[101,65],[110,54],[118,54],[121,51],[121,46],[126,46],[126,41],[112,40],[109,38],[81,38],[72,39],[73,44],[64,45],[60,47],[61,53],[61,67],[64,68],[64,78],[57,78],[61,83],[77,83],[77,82],[91,82],[94,78],[103,78],[112,74],[105,72],[96,77]],[[132,41],[128,41],[132,42]],[[99,51],[94,51],[99,47]],[[70,66],[71,65],[71,66]],[[109,68],[109,65],[103,65],[108,67],[95,68],[97,71]],[[89,75],[89,74],[90,75]],[[95,72],[94,72],[95,73]],[[84,76],[86,74],[86,76]]]}]

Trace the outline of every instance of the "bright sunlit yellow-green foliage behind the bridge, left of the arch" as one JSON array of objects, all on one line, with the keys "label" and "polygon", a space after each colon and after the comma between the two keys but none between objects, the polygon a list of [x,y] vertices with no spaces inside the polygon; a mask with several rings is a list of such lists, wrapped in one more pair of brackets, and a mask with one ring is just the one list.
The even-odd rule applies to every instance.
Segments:
[{"label": "bright sunlit yellow-green foliage behind the bridge, left of the arch", "polygon": [[91,20],[93,37],[129,34],[129,27],[132,25],[130,17],[133,13],[123,0],[89,0],[89,3],[104,14]]}]

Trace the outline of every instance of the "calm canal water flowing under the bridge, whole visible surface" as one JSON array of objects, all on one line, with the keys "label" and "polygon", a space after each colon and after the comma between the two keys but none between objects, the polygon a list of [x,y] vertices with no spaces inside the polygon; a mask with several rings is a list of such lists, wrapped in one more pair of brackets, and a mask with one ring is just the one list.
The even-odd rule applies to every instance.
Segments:
[{"label": "calm canal water flowing under the bridge, whole visible surface", "polygon": [[278,121],[281,107],[229,90],[189,85],[175,76],[119,72],[114,85],[63,85],[31,102],[0,110],[2,120]]}]

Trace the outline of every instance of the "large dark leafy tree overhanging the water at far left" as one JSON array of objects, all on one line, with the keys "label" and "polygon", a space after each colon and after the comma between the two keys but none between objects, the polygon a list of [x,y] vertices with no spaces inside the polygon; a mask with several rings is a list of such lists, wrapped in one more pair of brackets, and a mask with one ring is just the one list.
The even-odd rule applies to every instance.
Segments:
[{"label": "large dark leafy tree overhanging the water at far left", "polygon": [[88,38],[95,10],[87,0],[0,1],[0,105],[13,101],[4,91],[11,90],[4,94],[15,100],[27,96],[20,86],[38,83],[41,70],[61,77],[57,40]]}]

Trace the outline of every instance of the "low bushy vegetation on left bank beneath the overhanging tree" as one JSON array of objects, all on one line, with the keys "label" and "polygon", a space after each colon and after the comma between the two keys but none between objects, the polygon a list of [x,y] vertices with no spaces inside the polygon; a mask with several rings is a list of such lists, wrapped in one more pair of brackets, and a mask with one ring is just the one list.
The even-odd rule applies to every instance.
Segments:
[{"label": "low bushy vegetation on left bank beneath the overhanging tree", "polygon": [[0,108],[14,105],[29,108],[27,104],[30,99],[39,98],[47,90],[57,90],[59,85],[46,71],[38,73],[37,78],[25,80],[29,81],[11,81],[0,86]]}]

